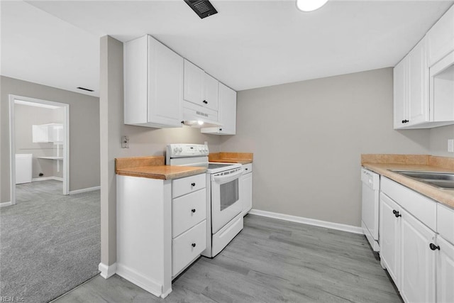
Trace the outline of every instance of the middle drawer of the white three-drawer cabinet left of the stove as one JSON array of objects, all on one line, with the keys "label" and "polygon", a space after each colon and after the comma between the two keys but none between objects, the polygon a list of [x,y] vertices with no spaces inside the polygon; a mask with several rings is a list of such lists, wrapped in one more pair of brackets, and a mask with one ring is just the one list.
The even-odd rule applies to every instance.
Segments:
[{"label": "middle drawer of the white three-drawer cabinet left of the stove", "polygon": [[200,189],[172,201],[172,238],[206,219],[206,189]]}]

